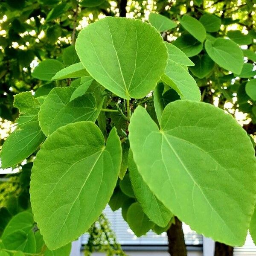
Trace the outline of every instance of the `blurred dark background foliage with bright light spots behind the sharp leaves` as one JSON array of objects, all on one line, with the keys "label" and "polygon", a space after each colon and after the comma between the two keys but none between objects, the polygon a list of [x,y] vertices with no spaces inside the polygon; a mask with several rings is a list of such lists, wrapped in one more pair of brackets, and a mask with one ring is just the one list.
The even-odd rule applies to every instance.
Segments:
[{"label": "blurred dark background foliage with bright light spots behind the sharp leaves", "polygon": [[[69,58],[65,55],[72,52],[71,45],[79,31],[98,19],[122,16],[148,20],[150,12],[158,12],[178,24],[162,36],[166,41],[175,41],[185,53],[188,47],[196,49],[194,54],[189,54],[195,63],[200,63],[205,50],[179,25],[178,15],[187,13],[202,20],[203,15],[210,13],[218,18],[219,27],[209,26],[207,38],[230,38],[241,46],[247,63],[241,74],[224,70],[213,61],[207,62],[206,70],[190,67],[189,72],[200,87],[202,101],[232,114],[254,143],[256,102],[247,95],[245,84],[256,75],[255,6],[256,0],[0,0],[0,146],[15,129],[18,111],[13,107],[13,96],[23,91],[44,95],[58,83],[33,78],[31,73],[38,63],[51,58],[68,66]],[[29,209],[29,178],[34,156],[10,168],[12,174],[0,174],[0,235],[12,216]],[[108,229],[108,221],[100,216],[90,229],[88,252],[107,250],[123,255],[114,235],[106,237]],[[97,239],[112,241],[112,245],[100,246]]]}]

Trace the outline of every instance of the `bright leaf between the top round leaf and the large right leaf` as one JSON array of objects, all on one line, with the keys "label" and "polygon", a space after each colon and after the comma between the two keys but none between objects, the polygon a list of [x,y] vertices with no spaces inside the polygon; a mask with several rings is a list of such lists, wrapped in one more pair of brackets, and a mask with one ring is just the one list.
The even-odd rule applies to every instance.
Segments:
[{"label": "bright leaf between the top round leaf and the large right leaf", "polygon": [[180,99],[201,100],[199,87],[193,77],[181,65],[168,60],[161,80],[176,90]]}]

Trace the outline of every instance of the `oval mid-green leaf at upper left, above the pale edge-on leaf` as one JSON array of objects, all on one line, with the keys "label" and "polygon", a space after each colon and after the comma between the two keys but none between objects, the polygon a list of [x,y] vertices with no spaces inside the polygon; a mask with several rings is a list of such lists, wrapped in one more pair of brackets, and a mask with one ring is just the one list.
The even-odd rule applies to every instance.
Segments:
[{"label": "oval mid-green leaf at upper left, above the pale edge-on leaf", "polygon": [[63,68],[64,65],[60,61],[49,59],[40,62],[31,75],[39,80],[51,81],[52,77]]}]

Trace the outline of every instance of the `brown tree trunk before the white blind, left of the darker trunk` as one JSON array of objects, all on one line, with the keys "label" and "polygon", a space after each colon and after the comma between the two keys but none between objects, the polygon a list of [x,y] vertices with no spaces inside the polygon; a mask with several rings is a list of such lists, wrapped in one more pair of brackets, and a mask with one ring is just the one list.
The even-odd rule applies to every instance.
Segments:
[{"label": "brown tree trunk before the white blind, left of the darker trunk", "polygon": [[186,256],[186,244],[182,229],[182,222],[175,217],[175,224],[167,230],[169,250],[171,256]]}]

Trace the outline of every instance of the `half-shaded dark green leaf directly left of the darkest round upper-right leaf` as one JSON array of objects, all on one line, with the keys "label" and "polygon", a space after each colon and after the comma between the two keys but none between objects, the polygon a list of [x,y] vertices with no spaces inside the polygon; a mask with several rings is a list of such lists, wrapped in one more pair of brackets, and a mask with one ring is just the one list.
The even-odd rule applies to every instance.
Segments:
[{"label": "half-shaded dark green leaf directly left of the darkest round upper-right leaf", "polygon": [[181,49],[188,57],[198,55],[203,49],[203,44],[192,37],[192,35],[182,35],[172,44]]}]

